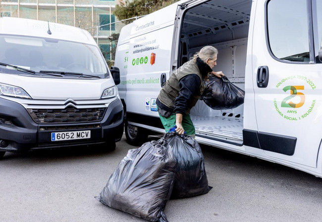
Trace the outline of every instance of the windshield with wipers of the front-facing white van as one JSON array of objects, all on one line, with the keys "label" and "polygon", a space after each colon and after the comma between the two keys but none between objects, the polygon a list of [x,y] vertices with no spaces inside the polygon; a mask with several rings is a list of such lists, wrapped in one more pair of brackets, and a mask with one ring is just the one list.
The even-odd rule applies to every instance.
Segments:
[{"label": "windshield with wipers of the front-facing white van", "polygon": [[[54,72],[87,74],[100,78],[109,76],[106,62],[97,45],[9,35],[0,35],[0,45],[0,63],[32,70],[36,74]],[[20,74],[8,72],[10,73]]]}]

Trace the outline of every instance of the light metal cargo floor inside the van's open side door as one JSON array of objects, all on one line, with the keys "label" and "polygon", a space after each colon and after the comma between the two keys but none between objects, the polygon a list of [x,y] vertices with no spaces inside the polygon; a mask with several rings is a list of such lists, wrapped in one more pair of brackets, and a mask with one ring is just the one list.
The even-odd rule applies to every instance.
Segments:
[{"label": "light metal cargo floor inside the van's open side door", "polygon": [[191,119],[196,128],[196,136],[243,143],[243,118],[191,115]]}]

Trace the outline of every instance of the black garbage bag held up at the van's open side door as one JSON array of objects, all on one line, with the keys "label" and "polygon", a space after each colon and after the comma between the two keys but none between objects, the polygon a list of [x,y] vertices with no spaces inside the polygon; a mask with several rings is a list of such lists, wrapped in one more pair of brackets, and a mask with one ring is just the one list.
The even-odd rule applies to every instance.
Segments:
[{"label": "black garbage bag held up at the van's open side door", "polygon": [[201,99],[214,110],[236,108],[244,103],[245,91],[232,84],[226,76],[209,76],[204,81],[205,91]]}]

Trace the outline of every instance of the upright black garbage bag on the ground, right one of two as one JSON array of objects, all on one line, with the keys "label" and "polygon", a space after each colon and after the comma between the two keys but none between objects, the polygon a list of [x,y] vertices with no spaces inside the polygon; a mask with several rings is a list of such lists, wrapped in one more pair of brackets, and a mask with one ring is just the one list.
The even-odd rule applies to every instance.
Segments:
[{"label": "upright black garbage bag on the ground, right one of two", "polygon": [[204,155],[198,142],[191,136],[176,132],[166,133],[161,140],[172,147],[177,171],[171,198],[192,197],[208,193],[208,179]]}]

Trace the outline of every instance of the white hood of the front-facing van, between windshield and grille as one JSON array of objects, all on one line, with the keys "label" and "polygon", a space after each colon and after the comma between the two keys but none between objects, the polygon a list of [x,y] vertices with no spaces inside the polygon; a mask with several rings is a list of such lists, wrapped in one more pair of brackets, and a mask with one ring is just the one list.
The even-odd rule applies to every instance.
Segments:
[{"label": "white hood of the front-facing van, between windshield and grille", "polygon": [[0,83],[24,89],[35,100],[99,100],[103,91],[115,86],[112,78],[53,78],[0,74]]}]

